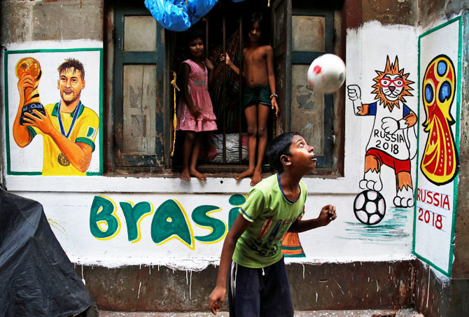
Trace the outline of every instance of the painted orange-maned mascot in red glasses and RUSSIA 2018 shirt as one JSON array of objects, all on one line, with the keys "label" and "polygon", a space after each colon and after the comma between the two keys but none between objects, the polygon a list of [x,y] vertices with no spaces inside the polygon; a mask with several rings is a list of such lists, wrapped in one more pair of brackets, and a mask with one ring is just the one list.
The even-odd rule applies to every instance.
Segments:
[{"label": "painted orange-maned mascot in red glasses and RUSSIA 2018 shirt", "polygon": [[409,73],[399,69],[398,57],[391,63],[386,58],[384,71],[376,71],[373,78],[374,102],[364,104],[358,85],[349,85],[347,94],[353,102],[356,115],[374,115],[370,140],[366,146],[365,174],[360,181],[363,190],[380,192],[383,188],[381,167],[387,165],[394,170],[396,192],[393,204],[396,207],[414,206],[414,190],[410,173],[410,160],[416,153],[416,134],[414,125],[417,118],[405,104],[406,96],[414,83],[408,80]]}]

